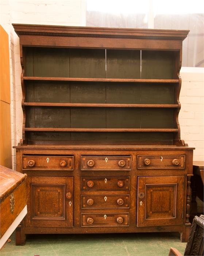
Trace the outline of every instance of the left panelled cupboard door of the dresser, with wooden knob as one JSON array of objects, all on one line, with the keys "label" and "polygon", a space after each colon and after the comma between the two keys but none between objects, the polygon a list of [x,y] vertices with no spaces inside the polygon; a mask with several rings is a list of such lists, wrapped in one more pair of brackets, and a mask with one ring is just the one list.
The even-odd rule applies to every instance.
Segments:
[{"label": "left panelled cupboard door of the dresser, with wooden knob", "polygon": [[73,177],[31,177],[30,189],[28,226],[73,226]]}]

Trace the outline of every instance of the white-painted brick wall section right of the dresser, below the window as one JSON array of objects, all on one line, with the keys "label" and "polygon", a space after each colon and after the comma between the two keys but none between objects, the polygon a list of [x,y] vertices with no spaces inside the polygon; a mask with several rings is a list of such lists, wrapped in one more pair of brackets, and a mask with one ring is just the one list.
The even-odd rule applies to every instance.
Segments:
[{"label": "white-painted brick wall section right of the dresser, below the window", "polygon": [[181,138],[195,147],[194,161],[204,161],[204,68],[181,68]]}]

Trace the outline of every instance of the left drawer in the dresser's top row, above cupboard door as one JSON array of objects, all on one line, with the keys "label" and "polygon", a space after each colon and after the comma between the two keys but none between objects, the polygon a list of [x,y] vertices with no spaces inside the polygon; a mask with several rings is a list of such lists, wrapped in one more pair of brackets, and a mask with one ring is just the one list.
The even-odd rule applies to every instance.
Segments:
[{"label": "left drawer in the dresser's top row, above cupboard door", "polygon": [[73,170],[72,156],[23,156],[23,170]]}]

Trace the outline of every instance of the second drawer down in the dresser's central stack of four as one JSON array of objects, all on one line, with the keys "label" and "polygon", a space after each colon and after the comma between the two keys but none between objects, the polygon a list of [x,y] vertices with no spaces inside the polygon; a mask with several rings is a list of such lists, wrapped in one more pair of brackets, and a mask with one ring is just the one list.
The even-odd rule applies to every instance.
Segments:
[{"label": "second drawer down in the dresser's central stack of four", "polygon": [[130,177],[81,177],[81,190],[130,190]]}]

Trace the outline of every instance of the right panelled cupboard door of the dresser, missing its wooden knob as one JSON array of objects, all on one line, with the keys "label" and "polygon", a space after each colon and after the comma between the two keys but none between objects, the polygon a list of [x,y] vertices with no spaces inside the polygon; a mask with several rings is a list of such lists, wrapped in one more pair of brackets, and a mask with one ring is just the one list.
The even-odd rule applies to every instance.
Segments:
[{"label": "right panelled cupboard door of the dresser, missing its wooden knob", "polygon": [[182,224],[184,177],[138,177],[137,226]]}]

